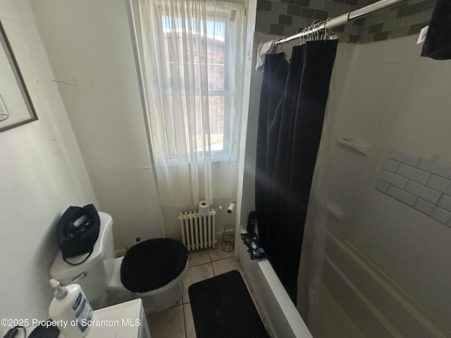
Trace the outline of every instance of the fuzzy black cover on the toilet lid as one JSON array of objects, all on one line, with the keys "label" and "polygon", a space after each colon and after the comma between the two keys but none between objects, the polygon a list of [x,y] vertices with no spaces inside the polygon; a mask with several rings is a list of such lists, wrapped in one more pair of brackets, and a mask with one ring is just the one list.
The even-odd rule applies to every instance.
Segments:
[{"label": "fuzzy black cover on the toilet lid", "polygon": [[128,249],[121,264],[121,282],[131,292],[149,292],[174,280],[185,268],[188,251],[175,239],[156,238]]}]

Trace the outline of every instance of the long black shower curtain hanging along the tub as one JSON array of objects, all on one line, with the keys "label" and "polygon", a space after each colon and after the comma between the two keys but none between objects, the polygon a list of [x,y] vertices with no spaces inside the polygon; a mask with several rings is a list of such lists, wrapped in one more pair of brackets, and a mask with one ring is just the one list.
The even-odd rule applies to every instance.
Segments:
[{"label": "long black shower curtain hanging along the tub", "polygon": [[255,208],[261,246],[293,303],[337,40],[265,56],[261,85]]}]

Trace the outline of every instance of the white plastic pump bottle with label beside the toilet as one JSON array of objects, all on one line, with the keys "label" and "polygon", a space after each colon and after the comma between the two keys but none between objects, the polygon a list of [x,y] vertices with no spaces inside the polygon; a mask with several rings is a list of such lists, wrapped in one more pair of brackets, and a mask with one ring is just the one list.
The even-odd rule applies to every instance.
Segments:
[{"label": "white plastic pump bottle with label beside the toilet", "polygon": [[55,289],[54,299],[50,303],[49,316],[65,338],[85,337],[92,320],[92,308],[78,284],[61,286],[58,280],[50,280]]}]

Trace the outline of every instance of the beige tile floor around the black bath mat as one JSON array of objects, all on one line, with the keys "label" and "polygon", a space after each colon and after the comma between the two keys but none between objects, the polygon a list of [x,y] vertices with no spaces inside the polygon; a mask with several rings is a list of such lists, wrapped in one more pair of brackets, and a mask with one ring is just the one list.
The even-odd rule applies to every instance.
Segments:
[{"label": "beige tile floor around the black bath mat", "polygon": [[216,244],[215,249],[190,252],[188,254],[188,270],[183,277],[182,300],[172,308],[147,315],[152,338],[195,338],[188,287],[231,270],[240,271],[245,280],[244,273],[233,256],[233,252],[223,251],[221,245]]}]

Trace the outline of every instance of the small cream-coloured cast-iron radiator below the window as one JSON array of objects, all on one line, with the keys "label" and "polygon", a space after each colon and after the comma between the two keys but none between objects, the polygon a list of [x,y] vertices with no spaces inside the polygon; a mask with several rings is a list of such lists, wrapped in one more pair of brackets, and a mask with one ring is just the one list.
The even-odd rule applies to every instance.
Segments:
[{"label": "small cream-coloured cast-iron radiator below the window", "polygon": [[180,213],[180,229],[182,230],[182,242],[188,251],[204,248],[214,248],[215,239],[215,215],[216,211],[210,210],[209,215],[199,215],[197,211],[185,211]]}]

